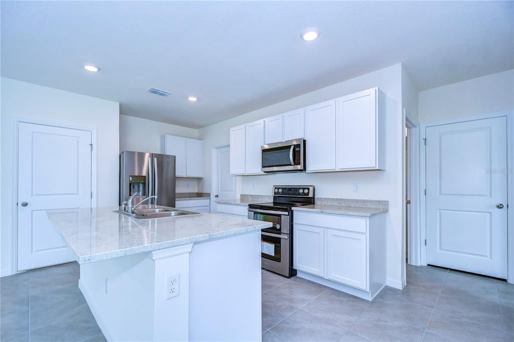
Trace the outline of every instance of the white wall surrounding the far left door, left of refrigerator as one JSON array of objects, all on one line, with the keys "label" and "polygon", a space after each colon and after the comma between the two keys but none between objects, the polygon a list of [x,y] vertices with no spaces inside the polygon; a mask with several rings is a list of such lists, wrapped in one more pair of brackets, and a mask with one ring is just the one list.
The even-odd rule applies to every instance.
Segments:
[{"label": "white wall surrounding the far left door, left of refrigerator", "polygon": [[[1,78],[1,275],[13,269],[13,119],[97,129],[97,206],[118,204],[119,104],[95,97]],[[51,151],[50,151],[51,152]],[[55,152],[55,151],[54,151]]]}]

